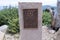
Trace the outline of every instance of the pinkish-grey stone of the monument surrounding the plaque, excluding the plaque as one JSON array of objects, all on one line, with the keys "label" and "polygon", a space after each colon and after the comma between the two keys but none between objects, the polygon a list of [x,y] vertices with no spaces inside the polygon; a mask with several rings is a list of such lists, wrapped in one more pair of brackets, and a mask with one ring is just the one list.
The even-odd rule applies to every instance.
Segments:
[{"label": "pinkish-grey stone of the monument surrounding the plaque, excluding the plaque", "polygon": [[[38,9],[38,28],[24,29],[23,9]],[[39,2],[20,2],[19,3],[19,40],[42,40],[42,4]]]}]

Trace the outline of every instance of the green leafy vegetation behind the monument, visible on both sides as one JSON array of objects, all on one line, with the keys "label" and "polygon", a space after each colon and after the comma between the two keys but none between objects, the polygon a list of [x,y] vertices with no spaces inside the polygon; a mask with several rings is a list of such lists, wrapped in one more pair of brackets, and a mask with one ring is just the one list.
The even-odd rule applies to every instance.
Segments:
[{"label": "green leafy vegetation behind the monument, visible on both sides", "polygon": [[[51,15],[48,11],[43,11],[42,25],[51,24]],[[19,33],[19,16],[18,8],[9,7],[0,10],[0,26],[8,25],[7,33],[16,34]]]}]

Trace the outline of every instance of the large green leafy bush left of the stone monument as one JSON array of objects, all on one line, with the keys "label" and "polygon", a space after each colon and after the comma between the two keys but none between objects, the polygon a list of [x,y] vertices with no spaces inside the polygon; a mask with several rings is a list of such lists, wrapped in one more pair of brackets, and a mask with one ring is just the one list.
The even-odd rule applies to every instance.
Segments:
[{"label": "large green leafy bush left of the stone monument", "polygon": [[0,25],[8,25],[8,33],[15,34],[19,32],[19,19],[17,8],[5,8],[0,11]]}]

